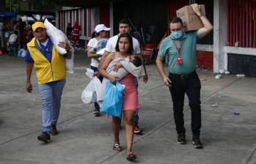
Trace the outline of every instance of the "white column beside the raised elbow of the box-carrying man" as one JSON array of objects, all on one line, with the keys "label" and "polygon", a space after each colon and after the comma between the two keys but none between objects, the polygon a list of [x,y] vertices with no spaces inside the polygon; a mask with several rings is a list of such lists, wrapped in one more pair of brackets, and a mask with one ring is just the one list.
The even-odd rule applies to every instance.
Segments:
[{"label": "white column beside the raised elbow of the box-carrying man", "polygon": [[213,1],[213,72],[224,70],[227,43],[227,0]]}]

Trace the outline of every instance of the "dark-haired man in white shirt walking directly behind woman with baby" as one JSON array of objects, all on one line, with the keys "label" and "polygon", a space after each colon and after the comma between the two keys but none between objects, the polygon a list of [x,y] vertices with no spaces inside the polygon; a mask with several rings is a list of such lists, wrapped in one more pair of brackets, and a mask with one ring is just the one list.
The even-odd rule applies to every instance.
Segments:
[{"label": "dark-haired man in white shirt walking directly behind woman with baby", "polygon": [[[131,32],[131,24],[127,19],[120,20],[119,22],[119,34],[115,35],[114,37],[109,38],[109,41],[106,43],[106,48],[105,48],[105,53],[103,57],[100,60],[100,65],[103,63],[104,59],[106,56],[111,53],[115,52],[115,47],[117,45],[117,39],[120,34],[123,33],[130,33]],[[136,56],[139,56],[142,58],[141,55],[141,50],[139,46],[139,41],[136,40],[136,38],[133,37],[133,47],[134,47],[134,54]],[[143,60],[143,59],[142,59]],[[147,83],[147,71],[145,68],[145,65],[143,64],[144,70],[145,70],[145,75],[143,76],[143,81]],[[138,86],[138,81],[136,81],[137,86]],[[134,116],[134,133],[135,134],[142,134],[141,128],[139,128],[139,115],[138,115],[138,110],[136,110],[135,116]]]}]

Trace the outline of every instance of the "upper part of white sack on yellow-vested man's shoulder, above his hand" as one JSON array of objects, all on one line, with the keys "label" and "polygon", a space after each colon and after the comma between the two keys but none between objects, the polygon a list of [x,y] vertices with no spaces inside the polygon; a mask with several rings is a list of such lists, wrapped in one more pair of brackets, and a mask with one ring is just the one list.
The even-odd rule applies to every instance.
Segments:
[{"label": "upper part of white sack on yellow-vested man's shoulder, above his hand", "polygon": [[60,54],[65,55],[67,53],[66,49],[60,48],[58,44],[59,42],[66,42],[67,36],[59,29],[56,29],[56,27],[52,25],[47,19],[45,19],[44,25],[45,25],[46,33],[48,37],[50,37],[51,41],[54,43],[56,50]]}]

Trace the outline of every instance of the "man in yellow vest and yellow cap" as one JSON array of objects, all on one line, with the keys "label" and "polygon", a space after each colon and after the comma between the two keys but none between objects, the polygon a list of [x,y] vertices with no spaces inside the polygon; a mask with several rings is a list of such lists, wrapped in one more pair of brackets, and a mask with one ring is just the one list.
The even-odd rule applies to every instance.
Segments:
[{"label": "man in yellow vest and yellow cap", "polygon": [[70,59],[70,46],[67,42],[59,42],[59,47],[65,48],[67,54],[61,55],[56,51],[53,42],[48,38],[43,22],[37,21],[32,25],[34,38],[27,44],[24,61],[26,62],[26,91],[32,92],[30,82],[32,69],[37,74],[38,89],[42,103],[42,134],[39,141],[48,143],[51,135],[57,135],[56,124],[59,119],[59,109],[62,90],[65,86],[65,58]]}]

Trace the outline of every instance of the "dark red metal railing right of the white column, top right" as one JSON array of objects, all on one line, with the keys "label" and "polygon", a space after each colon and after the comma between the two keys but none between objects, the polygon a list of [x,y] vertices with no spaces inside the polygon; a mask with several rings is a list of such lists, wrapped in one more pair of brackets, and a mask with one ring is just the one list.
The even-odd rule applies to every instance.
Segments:
[{"label": "dark red metal railing right of the white column, top right", "polygon": [[227,45],[256,48],[256,1],[227,1]]}]

